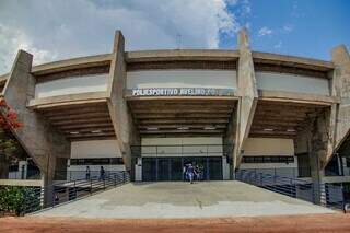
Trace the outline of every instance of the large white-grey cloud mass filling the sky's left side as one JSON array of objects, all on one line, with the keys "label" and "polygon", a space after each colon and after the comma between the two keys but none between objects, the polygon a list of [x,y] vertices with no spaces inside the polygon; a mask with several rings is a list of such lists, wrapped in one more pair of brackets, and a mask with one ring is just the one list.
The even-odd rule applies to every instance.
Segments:
[{"label": "large white-grey cloud mass filling the sky's left side", "polygon": [[109,53],[115,30],[135,50],[176,48],[177,34],[182,47],[217,48],[238,28],[225,0],[1,0],[0,73],[19,48],[36,63]]}]

